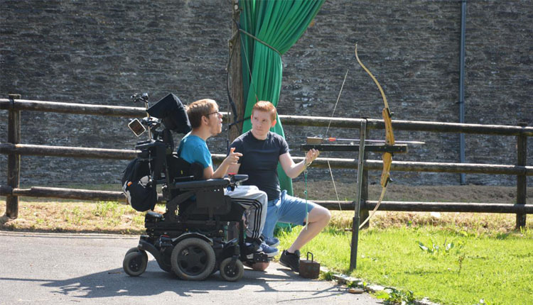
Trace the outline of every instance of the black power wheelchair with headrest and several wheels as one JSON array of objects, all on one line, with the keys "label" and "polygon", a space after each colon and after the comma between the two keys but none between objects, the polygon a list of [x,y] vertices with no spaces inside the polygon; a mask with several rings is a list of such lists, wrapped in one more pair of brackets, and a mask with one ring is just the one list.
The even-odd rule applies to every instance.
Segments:
[{"label": "black power wheelchair with headrest and several wheels", "polygon": [[[161,186],[166,212],[146,212],[146,234],[139,245],[126,252],[124,272],[139,276],[146,270],[148,255],[159,267],[174,272],[180,279],[200,281],[220,271],[227,281],[237,281],[244,274],[242,262],[269,262],[269,257],[254,253],[247,259],[244,246],[244,209],[225,196],[224,189],[238,187],[247,175],[231,175],[224,179],[201,179],[201,165],[190,165],[176,155],[171,131],[188,132],[188,120],[181,101],[169,94],[146,109],[150,116],[132,129],[147,126],[149,140],[137,143],[137,160],[148,167],[148,184]],[[184,122],[186,120],[186,122]],[[135,121],[135,120],[134,120]],[[139,120],[137,120],[139,122]],[[163,130],[158,128],[163,125]],[[125,191],[126,192],[126,191]],[[154,200],[155,204],[155,200]],[[133,204],[132,204],[133,206]],[[151,206],[154,209],[154,206]],[[236,238],[229,238],[232,228]]]}]

